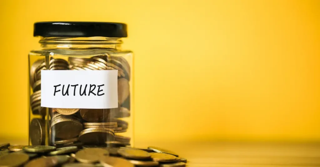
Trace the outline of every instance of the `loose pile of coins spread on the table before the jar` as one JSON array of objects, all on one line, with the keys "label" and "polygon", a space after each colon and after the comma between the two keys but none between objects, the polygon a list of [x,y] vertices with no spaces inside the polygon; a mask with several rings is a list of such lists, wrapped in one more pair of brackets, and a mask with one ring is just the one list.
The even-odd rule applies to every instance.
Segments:
[{"label": "loose pile of coins spread on the table before the jar", "polygon": [[187,160],[176,153],[148,148],[10,146],[0,144],[0,166],[25,167],[184,167]]}]

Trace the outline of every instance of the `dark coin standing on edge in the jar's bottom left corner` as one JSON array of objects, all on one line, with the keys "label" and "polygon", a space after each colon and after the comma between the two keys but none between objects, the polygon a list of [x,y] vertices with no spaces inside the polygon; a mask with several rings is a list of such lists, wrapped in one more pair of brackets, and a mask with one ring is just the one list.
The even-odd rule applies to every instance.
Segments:
[{"label": "dark coin standing on edge in the jar's bottom left corner", "polygon": [[32,145],[44,145],[45,141],[45,130],[44,120],[39,118],[32,119],[29,126],[29,135]]}]

